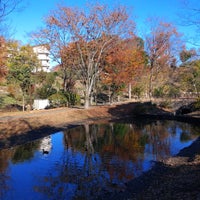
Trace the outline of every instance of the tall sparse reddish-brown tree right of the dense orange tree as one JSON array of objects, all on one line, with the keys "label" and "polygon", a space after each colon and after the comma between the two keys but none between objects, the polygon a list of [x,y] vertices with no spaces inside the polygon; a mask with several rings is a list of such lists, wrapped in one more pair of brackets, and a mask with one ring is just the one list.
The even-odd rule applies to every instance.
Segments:
[{"label": "tall sparse reddish-brown tree right of the dense orange tree", "polygon": [[181,44],[180,34],[172,24],[150,23],[151,31],[145,42],[149,60],[149,98],[152,97],[153,81],[158,78],[158,74],[176,64],[176,55]]}]

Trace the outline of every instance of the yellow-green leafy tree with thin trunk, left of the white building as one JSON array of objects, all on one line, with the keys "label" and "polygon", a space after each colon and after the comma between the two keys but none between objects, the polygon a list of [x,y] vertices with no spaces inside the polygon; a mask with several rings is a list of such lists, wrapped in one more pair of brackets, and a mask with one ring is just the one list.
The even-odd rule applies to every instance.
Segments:
[{"label": "yellow-green leafy tree with thin trunk, left of the white building", "polygon": [[[9,83],[19,86],[22,92],[22,106],[25,110],[25,95],[29,97],[33,93],[32,72],[38,67],[39,61],[31,46],[19,47],[17,43],[12,43],[10,56],[8,58],[8,75]],[[29,102],[30,103],[30,102]]]}]

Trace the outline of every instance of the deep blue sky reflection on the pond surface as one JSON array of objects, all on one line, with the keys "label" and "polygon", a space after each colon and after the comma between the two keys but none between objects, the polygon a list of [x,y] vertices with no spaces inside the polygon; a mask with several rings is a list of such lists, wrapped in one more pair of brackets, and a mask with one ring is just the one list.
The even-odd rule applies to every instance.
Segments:
[{"label": "deep blue sky reflection on the pond surface", "polygon": [[[175,134],[171,134],[169,129],[168,136],[162,141],[169,144],[171,155],[192,142],[181,142],[181,133],[180,127],[176,127]],[[62,132],[51,135],[48,154],[43,154],[41,149],[35,150],[29,160],[16,164],[9,162],[7,185],[10,189],[5,199],[72,199],[74,195],[88,197],[101,191],[120,191],[125,182],[149,170],[152,161],[160,156],[152,153],[157,147],[151,143],[145,144],[144,152],[138,152],[134,161],[123,159],[113,152],[102,153],[101,149],[91,154],[74,147],[64,147],[63,136]]]}]

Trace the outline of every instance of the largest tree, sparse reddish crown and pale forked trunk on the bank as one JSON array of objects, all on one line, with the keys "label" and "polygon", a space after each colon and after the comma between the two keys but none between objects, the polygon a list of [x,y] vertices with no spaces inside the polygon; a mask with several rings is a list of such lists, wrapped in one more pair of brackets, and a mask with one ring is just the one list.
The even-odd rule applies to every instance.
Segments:
[{"label": "largest tree, sparse reddish crown and pale forked trunk on the bank", "polygon": [[84,85],[85,108],[88,108],[104,54],[116,45],[116,36],[125,38],[133,31],[134,23],[124,7],[96,4],[87,10],[59,6],[36,36],[40,42],[49,43],[54,59],[61,63],[62,50],[74,43],[78,56],[74,68]]}]

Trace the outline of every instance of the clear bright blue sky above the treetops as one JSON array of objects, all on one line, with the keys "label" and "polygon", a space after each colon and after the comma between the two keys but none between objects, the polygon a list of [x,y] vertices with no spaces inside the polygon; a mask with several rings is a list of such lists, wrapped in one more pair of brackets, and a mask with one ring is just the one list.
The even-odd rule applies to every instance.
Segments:
[{"label": "clear bright blue sky above the treetops", "polygon": [[[145,31],[145,20],[152,16],[158,16],[163,21],[173,22],[180,32],[183,32],[187,37],[195,33],[191,27],[183,27],[180,25],[180,17],[182,12],[182,0],[107,0],[107,4],[122,4],[129,7],[131,14],[135,17],[138,34]],[[190,0],[195,1],[195,0]],[[23,0],[24,9],[20,12],[13,13],[10,16],[11,26],[13,27],[13,37],[21,40],[23,43],[28,42],[27,33],[36,31],[42,27],[44,17],[58,3],[66,6],[83,7],[88,0]],[[100,1],[102,2],[102,1]]]}]

